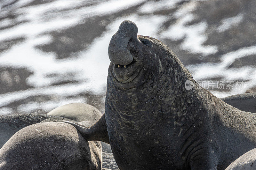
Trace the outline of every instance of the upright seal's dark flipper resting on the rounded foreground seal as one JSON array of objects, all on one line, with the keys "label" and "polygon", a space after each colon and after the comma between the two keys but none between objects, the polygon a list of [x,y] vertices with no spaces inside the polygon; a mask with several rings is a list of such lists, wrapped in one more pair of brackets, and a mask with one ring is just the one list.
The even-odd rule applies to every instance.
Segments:
[{"label": "upright seal's dark flipper resting on the rounded foreground seal", "polygon": [[73,123],[69,121],[65,121],[65,123],[74,126],[88,141],[98,140],[109,144],[105,113],[101,116],[98,122],[90,127],[84,127],[82,125],[79,125],[78,123]]}]

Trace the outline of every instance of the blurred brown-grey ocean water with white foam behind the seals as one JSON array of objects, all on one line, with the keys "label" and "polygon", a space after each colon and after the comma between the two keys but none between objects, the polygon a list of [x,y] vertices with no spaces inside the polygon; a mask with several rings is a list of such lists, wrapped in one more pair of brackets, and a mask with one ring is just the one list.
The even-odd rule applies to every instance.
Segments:
[{"label": "blurred brown-grey ocean water with white foam behind the seals", "polygon": [[87,102],[104,112],[108,43],[123,20],[167,44],[217,97],[256,86],[255,0],[2,0],[0,115]]}]

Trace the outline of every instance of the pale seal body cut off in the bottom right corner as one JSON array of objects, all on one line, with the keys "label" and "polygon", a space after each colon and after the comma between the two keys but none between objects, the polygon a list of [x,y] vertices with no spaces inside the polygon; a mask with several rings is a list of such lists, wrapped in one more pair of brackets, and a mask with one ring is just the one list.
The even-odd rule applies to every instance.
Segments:
[{"label": "pale seal body cut off in the bottom right corner", "polygon": [[256,148],[246,152],[230,164],[226,170],[255,170],[256,169]]}]

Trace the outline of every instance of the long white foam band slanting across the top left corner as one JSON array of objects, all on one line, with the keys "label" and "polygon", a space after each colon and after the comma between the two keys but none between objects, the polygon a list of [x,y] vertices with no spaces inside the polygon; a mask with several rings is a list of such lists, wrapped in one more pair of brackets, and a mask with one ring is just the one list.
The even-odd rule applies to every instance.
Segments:
[{"label": "long white foam band slanting across the top left corner", "polygon": [[[116,11],[124,10],[144,2],[145,0],[112,0],[97,5],[72,9],[81,5],[81,1],[53,1],[47,4],[17,8],[21,13],[19,18],[28,20],[17,26],[0,31],[0,39],[11,39],[16,37],[35,37],[41,33],[63,30],[84,22],[86,18],[96,15],[107,15]],[[70,9],[71,8],[71,9]],[[65,9],[70,9],[66,11]],[[49,13],[54,13],[51,18]]]}]

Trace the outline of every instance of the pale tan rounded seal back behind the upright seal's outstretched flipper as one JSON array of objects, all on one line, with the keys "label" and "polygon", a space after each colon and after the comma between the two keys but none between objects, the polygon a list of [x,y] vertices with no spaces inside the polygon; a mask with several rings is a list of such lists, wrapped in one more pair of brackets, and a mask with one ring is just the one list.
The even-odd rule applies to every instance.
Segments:
[{"label": "pale tan rounded seal back behind the upright seal's outstretched flipper", "polygon": [[[76,122],[90,121],[94,124],[102,113],[87,103],[70,103],[53,109],[47,115],[65,117]],[[103,152],[112,152],[109,144],[102,142],[101,145]]]}]

